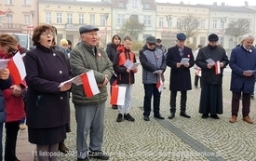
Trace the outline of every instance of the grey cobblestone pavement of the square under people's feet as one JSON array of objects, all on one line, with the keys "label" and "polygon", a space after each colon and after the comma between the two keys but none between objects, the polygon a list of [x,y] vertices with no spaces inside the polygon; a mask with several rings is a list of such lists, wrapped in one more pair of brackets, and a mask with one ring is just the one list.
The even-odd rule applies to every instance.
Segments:
[{"label": "grey cobblestone pavement of the square under people's feet", "polygon": [[[194,84],[194,70],[191,69]],[[115,122],[117,111],[110,105],[105,111],[105,129],[102,150],[110,155],[113,161],[252,161],[256,160],[256,128],[242,121],[241,114],[236,123],[229,123],[231,113],[230,69],[223,76],[223,114],[220,120],[202,119],[198,114],[200,88],[188,91],[187,113],[192,118],[183,118],[177,110],[176,117],[168,119],[169,114],[169,68],[165,73],[166,82],[161,96],[161,114],[166,119],[151,121],[142,119],[143,87],[141,84],[141,67],[136,74],[133,86],[131,111],[135,122]],[[109,101],[108,101],[109,102]],[[177,107],[180,95],[177,96]],[[256,121],[256,101],[251,101],[250,116]],[[76,160],[74,106],[71,106],[72,132],[65,140],[70,153],[59,157],[62,161]],[[241,110],[240,110],[241,113]],[[96,160],[96,159],[90,159]]]}]

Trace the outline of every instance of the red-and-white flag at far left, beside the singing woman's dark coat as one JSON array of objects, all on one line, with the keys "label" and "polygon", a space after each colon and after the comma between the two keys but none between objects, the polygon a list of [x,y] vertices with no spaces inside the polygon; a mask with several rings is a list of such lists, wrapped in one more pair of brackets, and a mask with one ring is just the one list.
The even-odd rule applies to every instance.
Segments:
[{"label": "red-and-white flag at far left, beside the singing woman's dark coat", "polygon": [[11,76],[13,77],[15,85],[19,85],[26,76],[26,69],[20,52],[17,52],[15,56],[13,56],[12,59],[8,61],[7,67]]}]

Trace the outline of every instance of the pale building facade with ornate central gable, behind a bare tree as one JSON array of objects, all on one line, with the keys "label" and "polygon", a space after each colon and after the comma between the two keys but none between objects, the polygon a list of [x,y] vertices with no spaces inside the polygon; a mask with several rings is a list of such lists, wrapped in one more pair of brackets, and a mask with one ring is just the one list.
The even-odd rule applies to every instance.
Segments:
[{"label": "pale building facade with ornate central gable, behind a bare tree", "polygon": [[[144,30],[133,37],[136,41],[144,41],[149,35],[155,35],[155,0],[104,0],[112,4],[112,34],[119,34],[122,38],[129,34],[121,31],[129,19],[144,24]],[[131,26],[128,30],[137,30]]]}]

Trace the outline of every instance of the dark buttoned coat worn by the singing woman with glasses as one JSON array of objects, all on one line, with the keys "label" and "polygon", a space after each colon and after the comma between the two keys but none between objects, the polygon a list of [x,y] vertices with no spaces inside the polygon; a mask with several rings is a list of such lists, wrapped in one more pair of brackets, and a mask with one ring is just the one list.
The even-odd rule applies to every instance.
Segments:
[{"label": "dark buttoned coat worn by the singing woman with glasses", "polygon": [[24,60],[28,86],[26,99],[27,125],[33,128],[61,127],[70,120],[68,91],[60,84],[71,71],[62,52],[37,46]]}]

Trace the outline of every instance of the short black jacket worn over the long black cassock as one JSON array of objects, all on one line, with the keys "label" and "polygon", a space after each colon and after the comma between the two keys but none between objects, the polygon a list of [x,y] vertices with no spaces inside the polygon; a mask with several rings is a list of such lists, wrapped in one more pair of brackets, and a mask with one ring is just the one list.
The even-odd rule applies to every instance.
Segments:
[{"label": "short black jacket worn over the long black cassock", "polygon": [[[215,68],[209,69],[206,60],[211,59],[215,62],[220,60],[223,63],[221,74],[215,74]],[[228,65],[228,57],[222,47],[202,47],[198,51],[195,64],[201,68],[201,84],[202,85],[222,85],[223,69]]]}]

